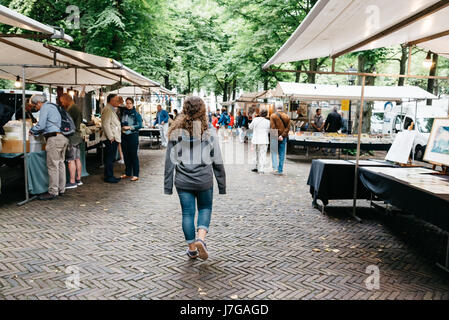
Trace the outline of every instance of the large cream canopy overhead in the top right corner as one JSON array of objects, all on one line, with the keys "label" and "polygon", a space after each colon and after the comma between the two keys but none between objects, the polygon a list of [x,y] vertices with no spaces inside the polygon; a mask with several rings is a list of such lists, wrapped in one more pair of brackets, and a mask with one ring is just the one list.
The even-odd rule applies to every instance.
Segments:
[{"label": "large cream canopy overhead in the top right corner", "polygon": [[449,58],[449,1],[319,0],[264,69],[400,44]]}]

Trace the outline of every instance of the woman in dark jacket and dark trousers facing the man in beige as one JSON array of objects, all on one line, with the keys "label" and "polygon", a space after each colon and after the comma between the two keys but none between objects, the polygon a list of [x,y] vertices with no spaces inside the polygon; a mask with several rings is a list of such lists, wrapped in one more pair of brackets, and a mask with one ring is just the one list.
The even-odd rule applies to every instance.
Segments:
[{"label": "woman in dark jacket and dark trousers facing the man in beige", "polygon": [[142,117],[134,107],[134,99],[126,99],[122,110],[122,149],[125,160],[125,174],[122,179],[139,180],[139,130],[143,128]]}]

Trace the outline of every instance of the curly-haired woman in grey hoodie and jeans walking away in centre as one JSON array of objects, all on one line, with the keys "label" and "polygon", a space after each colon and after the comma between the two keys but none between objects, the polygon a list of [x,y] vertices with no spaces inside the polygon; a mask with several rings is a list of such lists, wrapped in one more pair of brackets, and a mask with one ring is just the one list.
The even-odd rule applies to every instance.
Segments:
[{"label": "curly-haired woman in grey hoodie and jeans walking away in centre", "polygon": [[184,101],[183,112],[173,122],[168,138],[164,193],[173,194],[176,170],[174,184],[181,203],[187,255],[191,259],[206,260],[209,257],[206,235],[212,215],[214,175],[219,193],[226,194],[226,173],[218,138],[209,131],[206,105],[201,98],[189,97]]}]

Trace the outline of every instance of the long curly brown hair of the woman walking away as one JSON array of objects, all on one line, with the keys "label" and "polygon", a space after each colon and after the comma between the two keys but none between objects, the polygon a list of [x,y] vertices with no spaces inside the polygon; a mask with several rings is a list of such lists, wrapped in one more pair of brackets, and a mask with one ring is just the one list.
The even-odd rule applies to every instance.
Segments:
[{"label": "long curly brown hair of the woman walking away", "polygon": [[171,125],[168,136],[171,137],[175,130],[185,130],[193,137],[194,134],[200,133],[200,130],[194,130],[195,125],[199,125],[201,128],[201,136],[197,138],[201,138],[204,133],[208,132],[206,104],[200,97],[188,97],[184,100],[182,113]]}]

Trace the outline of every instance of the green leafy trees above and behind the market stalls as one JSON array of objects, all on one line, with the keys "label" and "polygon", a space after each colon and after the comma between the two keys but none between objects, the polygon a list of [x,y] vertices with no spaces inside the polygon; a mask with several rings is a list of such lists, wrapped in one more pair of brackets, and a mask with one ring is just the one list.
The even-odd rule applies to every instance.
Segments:
[{"label": "green leafy trees above and behind the market stalls", "polygon": [[[0,0],[2,5],[43,23],[64,27],[75,41],[58,42],[114,58],[181,93],[204,89],[234,98],[238,90],[256,91],[277,81],[346,83],[347,79],[305,73],[282,74],[261,66],[285,43],[317,0]],[[76,10],[74,10],[76,9]],[[73,17],[79,14],[79,24]],[[75,28],[73,28],[75,27]],[[27,32],[0,25],[0,32]],[[425,56],[415,51],[414,54]],[[343,70],[404,72],[404,48],[353,53],[337,60]],[[418,60],[418,59],[417,59]],[[418,60],[419,61],[419,60]],[[330,69],[327,58],[288,64],[299,71]],[[439,70],[447,72],[447,59]],[[425,74],[414,65],[416,73]],[[428,72],[428,71],[427,71]],[[374,79],[368,79],[374,84]],[[403,85],[397,79],[378,84]],[[376,83],[377,84],[377,83]],[[410,84],[426,88],[425,81]],[[446,84],[436,84],[437,93]]]}]

